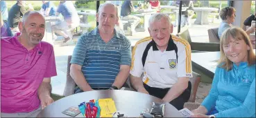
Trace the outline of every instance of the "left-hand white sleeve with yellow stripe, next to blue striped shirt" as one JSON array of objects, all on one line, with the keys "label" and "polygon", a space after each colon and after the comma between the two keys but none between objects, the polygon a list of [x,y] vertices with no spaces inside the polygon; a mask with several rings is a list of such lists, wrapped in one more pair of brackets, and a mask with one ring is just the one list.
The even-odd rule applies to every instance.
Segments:
[{"label": "left-hand white sleeve with yellow stripe, next to blue striped shirt", "polygon": [[136,44],[133,48],[132,52],[132,62],[130,66],[130,75],[134,77],[141,77],[144,71],[142,66],[142,54],[143,51],[138,44]]}]

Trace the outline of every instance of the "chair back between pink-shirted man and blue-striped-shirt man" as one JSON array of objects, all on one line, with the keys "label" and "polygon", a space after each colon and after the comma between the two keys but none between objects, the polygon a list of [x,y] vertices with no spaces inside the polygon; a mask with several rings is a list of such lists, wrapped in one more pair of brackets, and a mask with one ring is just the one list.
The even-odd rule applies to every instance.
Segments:
[{"label": "chair back between pink-shirted man and blue-striped-shirt man", "polygon": [[67,57],[67,79],[66,79],[65,90],[64,90],[64,94],[63,94],[65,97],[67,97],[69,95],[73,95],[75,87],[76,87],[75,81],[70,76],[71,58],[72,58],[71,55],[69,55]]}]

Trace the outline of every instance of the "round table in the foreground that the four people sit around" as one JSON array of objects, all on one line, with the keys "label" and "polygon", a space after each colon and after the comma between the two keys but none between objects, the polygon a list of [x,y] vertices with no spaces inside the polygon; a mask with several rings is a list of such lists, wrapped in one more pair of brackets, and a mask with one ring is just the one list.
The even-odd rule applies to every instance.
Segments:
[{"label": "round table in the foreground that the four people sit around", "polygon": [[[139,117],[142,110],[151,109],[152,102],[163,102],[162,99],[146,95],[141,92],[130,90],[93,90],[89,92],[80,92],[70,95],[53,102],[53,104],[44,108],[37,117],[70,117],[62,114],[62,111],[71,106],[78,107],[83,101],[88,102],[91,99],[112,98],[118,111],[125,112],[128,117]],[[76,117],[83,117],[80,113]],[[164,117],[182,117],[180,112],[171,104],[166,103],[164,108]]]}]

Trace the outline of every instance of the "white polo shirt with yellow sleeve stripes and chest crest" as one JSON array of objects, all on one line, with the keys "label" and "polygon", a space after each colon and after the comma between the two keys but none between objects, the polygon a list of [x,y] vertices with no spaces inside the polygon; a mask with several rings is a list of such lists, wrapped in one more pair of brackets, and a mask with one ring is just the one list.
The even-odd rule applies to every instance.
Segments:
[{"label": "white polo shirt with yellow sleeve stripes and chest crest", "polygon": [[[178,59],[175,50],[170,50],[171,40],[178,48]],[[145,65],[142,64],[142,55],[148,43],[153,46],[149,48]],[[135,77],[141,77],[142,81],[148,86],[155,88],[171,88],[177,81],[178,77],[192,77],[191,67],[191,49],[185,39],[170,36],[167,50],[162,52],[158,50],[152,37],[146,37],[137,41],[133,48],[130,74]]]}]

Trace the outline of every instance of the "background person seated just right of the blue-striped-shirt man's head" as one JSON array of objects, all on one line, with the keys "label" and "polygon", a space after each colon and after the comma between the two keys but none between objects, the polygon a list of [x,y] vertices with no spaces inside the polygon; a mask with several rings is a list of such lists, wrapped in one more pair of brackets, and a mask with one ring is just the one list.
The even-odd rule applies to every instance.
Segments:
[{"label": "background person seated just right of the blue-striped-shirt man's head", "polygon": [[133,1],[123,1],[123,4],[121,6],[121,20],[135,20],[135,22],[133,22],[131,25],[133,25],[131,28],[131,32],[136,32],[135,28],[136,26],[138,26],[139,22],[140,22],[140,18],[136,17],[134,15],[131,15],[131,12],[135,12],[137,9],[134,8],[133,6]]}]

